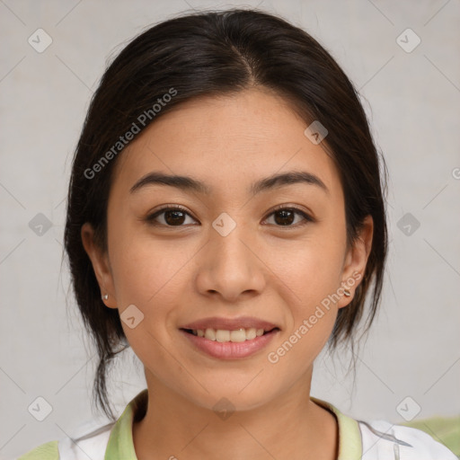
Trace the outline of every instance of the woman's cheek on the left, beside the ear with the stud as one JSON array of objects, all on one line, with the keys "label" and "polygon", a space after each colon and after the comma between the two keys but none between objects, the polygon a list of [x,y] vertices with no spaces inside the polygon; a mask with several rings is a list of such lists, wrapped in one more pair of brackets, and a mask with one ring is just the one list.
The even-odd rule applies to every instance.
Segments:
[{"label": "woman's cheek on the left, beside the ear with the stud", "polygon": [[[170,342],[174,315],[183,303],[186,270],[181,268],[190,255],[177,244],[165,248],[153,238],[119,236],[120,243],[111,248],[111,267],[123,330],[141,361],[167,364],[168,356],[158,343]],[[136,318],[133,328],[124,320],[128,315]]]}]

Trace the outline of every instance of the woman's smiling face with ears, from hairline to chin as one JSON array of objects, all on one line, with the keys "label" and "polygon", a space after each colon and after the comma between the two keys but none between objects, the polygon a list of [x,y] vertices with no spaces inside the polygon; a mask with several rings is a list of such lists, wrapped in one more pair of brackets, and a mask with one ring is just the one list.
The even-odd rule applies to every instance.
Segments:
[{"label": "woman's smiling face with ears, from hairline to chin", "polygon": [[91,226],[82,237],[148,385],[240,410],[310,385],[372,221],[348,247],[339,174],[305,128],[279,96],[244,91],[181,104],[120,155],[108,251]]}]

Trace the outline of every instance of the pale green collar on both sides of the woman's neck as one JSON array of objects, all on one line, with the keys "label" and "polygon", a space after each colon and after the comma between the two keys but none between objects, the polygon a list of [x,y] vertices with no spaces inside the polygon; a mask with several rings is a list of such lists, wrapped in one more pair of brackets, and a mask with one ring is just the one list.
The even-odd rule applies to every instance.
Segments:
[{"label": "pale green collar on both sides of the woman's neck", "polygon": [[[124,460],[137,460],[133,442],[133,421],[138,414],[145,413],[148,399],[148,390],[142,390],[135,396],[119,416],[119,420],[111,429],[111,436],[107,444],[104,460],[123,458]],[[344,415],[331,403],[314,398],[310,399],[336,416],[339,423],[339,457],[337,460],[360,460],[362,457],[361,433],[358,421]]]}]

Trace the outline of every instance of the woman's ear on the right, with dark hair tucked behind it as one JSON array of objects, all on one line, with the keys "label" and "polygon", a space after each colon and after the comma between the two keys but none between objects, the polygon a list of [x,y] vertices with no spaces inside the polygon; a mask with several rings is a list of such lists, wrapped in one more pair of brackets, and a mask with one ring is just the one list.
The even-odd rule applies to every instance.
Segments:
[{"label": "woman's ear on the right, with dark hair tucked behind it", "polygon": [[345,256],[342,269],[341,287],[348,289],[350,296],[341,296],[337,303],[339,308],[349,305],[355,296],[356,288],[363,279],[366,270],[367,259],[372,248],[372,236],[374,234],[374,220],[371,216],[364,218],[358,236],[349,247]]}]

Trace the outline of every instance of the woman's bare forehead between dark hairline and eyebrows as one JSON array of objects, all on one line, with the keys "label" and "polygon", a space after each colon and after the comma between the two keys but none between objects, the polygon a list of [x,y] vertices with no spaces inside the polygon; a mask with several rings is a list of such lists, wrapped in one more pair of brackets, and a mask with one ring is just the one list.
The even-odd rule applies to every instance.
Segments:
[{"label": "woman's bare forehead between dark hairline and eyebrows", "polygon": [[126,192],[156,171],[199,178],[213,194],[236,193],[261,177],[297,170],[341,193],[335,164],[305,136],[307,126],[281,96],[260,89],[183,102],[125,148],[113,185]]}]

